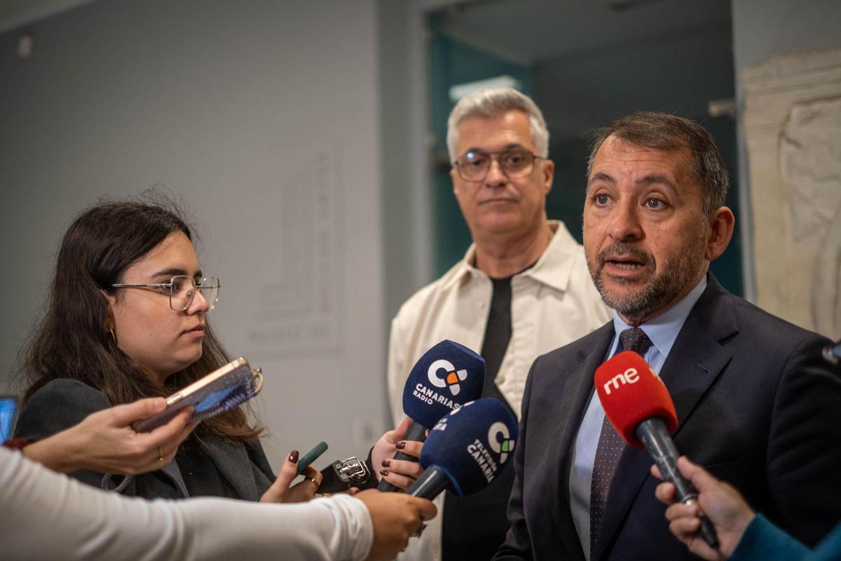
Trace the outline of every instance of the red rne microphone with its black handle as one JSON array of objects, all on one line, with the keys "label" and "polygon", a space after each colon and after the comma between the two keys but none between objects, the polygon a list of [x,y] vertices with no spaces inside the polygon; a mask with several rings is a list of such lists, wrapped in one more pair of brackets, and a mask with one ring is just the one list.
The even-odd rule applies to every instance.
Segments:
[{"label": "red rne microphone with its black handle", "polygon": [[[616,354],[595,370],[595,391],[605,415],[625,442],[645,447],[663,478],[674,484],[675,499],[695,504],[698,493],[678,470],[677,448],[671,433],[678,415],[663,380],[636,352]],[[709,518],[701,515],[701,537],[718,549],[718,537]]]}]

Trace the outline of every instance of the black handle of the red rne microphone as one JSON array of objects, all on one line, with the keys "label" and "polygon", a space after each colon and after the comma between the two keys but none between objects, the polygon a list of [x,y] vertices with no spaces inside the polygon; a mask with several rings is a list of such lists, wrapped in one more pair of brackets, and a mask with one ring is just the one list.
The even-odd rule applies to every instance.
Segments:
[{"label": "black handle of the red rne microphone", "polygon": [[[663,419],[653,417],[646,419],[634,431],[637,438],[643,442],[648,455],[657,464],[663,479],[674,484],[674,498],[688,505],[696,504],[698,491],[687,481],[678,469],[678,449],[674,447],[672,437],[666,429]],[[712,521],[701,513],[701,537],[706,545],[718,550],[718,537]]]}]

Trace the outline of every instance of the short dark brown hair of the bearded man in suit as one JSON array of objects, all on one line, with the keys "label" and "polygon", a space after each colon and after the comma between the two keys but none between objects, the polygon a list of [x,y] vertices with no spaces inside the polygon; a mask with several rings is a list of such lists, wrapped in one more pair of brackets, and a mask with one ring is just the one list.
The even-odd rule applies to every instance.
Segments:
[{"label": "short dark brown hair of the bearded man in suit", "polygon": [[649,111],[623,117],[596,131],[587,164],[588,178],[596,153],[611,135],[634,146],[656,150],[688,149],[692,155],[690,174],[701,185],[704,214],[708,215],[724,206],[730,183],[727,169],[712,136],[700,124],[682,117]]}]

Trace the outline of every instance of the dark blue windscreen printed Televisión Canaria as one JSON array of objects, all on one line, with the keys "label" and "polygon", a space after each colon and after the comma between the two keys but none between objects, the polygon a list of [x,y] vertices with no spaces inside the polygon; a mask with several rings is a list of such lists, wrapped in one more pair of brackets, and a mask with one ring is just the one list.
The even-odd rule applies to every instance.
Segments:
[{"label": "dark blue windscreen printed Televisi\u00f3n Canaria", "polygon": [[517,421],[494,398],[464,404],[429,431],[421,466],[441,468],[463,497],[483,490],[514,457]]}]

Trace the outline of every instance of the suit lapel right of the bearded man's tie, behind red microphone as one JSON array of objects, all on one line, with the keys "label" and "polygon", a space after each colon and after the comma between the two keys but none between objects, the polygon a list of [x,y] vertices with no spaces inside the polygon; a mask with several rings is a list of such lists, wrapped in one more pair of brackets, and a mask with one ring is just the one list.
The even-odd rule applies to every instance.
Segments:
[{"label": "suit lapel right of the bearded man's tie, behind red microphone", "polygon": [[[732,296],[712,275],[708,275],[707,288],[686,318],[660,371],[660,378],[669,389],[678,414],[675,437],[680,427],[690,421],[691,412],[706,389],[733,357],[719,341],[738,331],[735,318]],[[643,483],[651,477],[648,469],[652,463],[644,449],[626,446],[622,452],[608,492],[595,551],[591,556],[594,561],[606,552]]]}]

